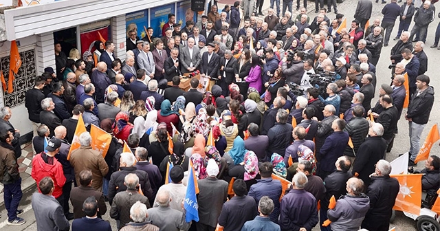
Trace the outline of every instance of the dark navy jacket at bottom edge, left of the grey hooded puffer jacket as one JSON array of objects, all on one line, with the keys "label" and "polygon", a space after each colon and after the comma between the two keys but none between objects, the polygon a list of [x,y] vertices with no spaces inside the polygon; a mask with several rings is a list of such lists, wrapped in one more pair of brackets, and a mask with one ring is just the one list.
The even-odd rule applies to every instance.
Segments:
[{"label": "dark navy jacket at bottom edge, left of the grey hooded puffer jacket", "polygon": [[318,223],[318,210],[314,195],[304,189],[292,189],[281,200],[280,226],[283,231],[311,231]]}]

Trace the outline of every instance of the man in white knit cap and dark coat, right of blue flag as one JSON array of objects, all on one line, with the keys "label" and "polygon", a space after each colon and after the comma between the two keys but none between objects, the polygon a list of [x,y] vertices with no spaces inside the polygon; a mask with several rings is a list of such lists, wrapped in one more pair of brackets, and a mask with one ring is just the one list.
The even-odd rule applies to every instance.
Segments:
[{"label": "man in white knit cap and dark coat, right of blue flag", "polygon": [[[221,207],[226,199],[228,199],[228,182],[217,179],[219,166],[214,159],[208,161],[206,173],[208,177],[197,181],[200,191],[197,201],[199,203],[199,222],[196,224],[197,231],[215,230]],[[255,208],[253,210],[255,210]],[[252,217],[252,219],[253,218],[254,217]]]}]

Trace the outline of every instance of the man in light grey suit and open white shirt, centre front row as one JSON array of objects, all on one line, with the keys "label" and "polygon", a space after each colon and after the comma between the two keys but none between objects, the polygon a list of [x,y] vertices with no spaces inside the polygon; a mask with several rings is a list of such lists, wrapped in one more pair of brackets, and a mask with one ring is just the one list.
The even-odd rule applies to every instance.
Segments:
[{"label": "man in light grey suit and open white shirt, centre front row", "polygon": [[194,38],[189,38],[187,43],[180,55],[181,73],[194,72],[201,61],[200,50],[199,47],[195,46]]}]

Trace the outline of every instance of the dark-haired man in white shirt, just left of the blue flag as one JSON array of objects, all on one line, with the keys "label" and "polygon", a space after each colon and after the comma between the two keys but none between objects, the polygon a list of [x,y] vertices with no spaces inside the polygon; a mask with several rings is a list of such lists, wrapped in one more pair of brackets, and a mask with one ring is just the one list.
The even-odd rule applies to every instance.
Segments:
[{"label": "dark-haired man in white shirt, just left of the blue flag", "polygon": [[[184,168],[181,168],[179,165],[173,166],[170,170],[170,178],[172,182],[160,186],[159,190],[157,190],[157,194],[164,190],[168,191],[171,199],[170,208],[184,212],[181,208],[181,203],[184,201],[186,195],[186,186],[181,183],[181,180],[184,179]],[[153,207],[159,207],[157,197],[153,203]]]}]

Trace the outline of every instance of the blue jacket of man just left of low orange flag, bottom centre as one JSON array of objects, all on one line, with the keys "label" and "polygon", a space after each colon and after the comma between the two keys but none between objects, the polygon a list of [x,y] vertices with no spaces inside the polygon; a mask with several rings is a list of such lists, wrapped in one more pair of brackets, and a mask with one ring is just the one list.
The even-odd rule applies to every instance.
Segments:
[{"label": "blue jacket of man just left of low orange flag, bottom centre", "polygon": [[261,197],[267,196],[274,201],[274,211],[270,214],[270,220],[278,223],[280,214],[280,197],[283,188],[278,179],[263,178],[257,179],[258,183],[250,186],[248,196],[254,197],[256,206],[258,206]]}]

